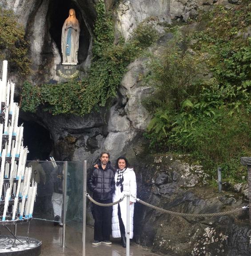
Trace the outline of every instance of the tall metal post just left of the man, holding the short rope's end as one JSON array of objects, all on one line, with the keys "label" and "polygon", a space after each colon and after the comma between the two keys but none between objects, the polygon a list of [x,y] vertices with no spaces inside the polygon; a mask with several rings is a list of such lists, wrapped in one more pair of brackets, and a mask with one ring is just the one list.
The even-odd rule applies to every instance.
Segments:
[{"label": "tall metal post just left of the man, holding the short rope's end", "polygon": [[87,161],[84,160],[83,172],[83,234],[82,234],[82,256],[85,256],[85,228],[86,228],[86,187],[87,187]]}]

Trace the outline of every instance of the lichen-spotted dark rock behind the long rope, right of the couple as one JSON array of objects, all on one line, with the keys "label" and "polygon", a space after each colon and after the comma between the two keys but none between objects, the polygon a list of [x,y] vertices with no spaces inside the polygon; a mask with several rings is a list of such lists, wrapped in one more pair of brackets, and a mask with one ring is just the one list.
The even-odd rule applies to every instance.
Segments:
[{"label": "lichen-spotted dark rock behind the long rope, right of the couple", "polygon": [[[139,160],[137,197],[169,211],[192,214],[223,212],[243,204],[241,193],[219,194],[204,187],[200,166],[184,164],[182,158],[167,155]],[[166,255],[247,256],[251,253],[247,214],[248,210],[210,218],[182,217],[136,203],[135,240]]]}]

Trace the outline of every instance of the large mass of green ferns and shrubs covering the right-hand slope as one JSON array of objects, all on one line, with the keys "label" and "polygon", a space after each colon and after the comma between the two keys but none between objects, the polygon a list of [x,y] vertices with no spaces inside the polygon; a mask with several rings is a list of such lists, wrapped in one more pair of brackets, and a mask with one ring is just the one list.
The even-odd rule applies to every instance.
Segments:
[{"label": "large mass of green ferns and shrubs covering the right-hand slope", "polygon": [[146,104],[153,113],[145,133],[152,150],[190,153],[211,176],[222,166],[223,177],[233,180],[243,173],[239,157],[251,153],[250,9],[219,6],[203,17],[203,31],[181,35],[175,28],[146,78],[156,88]]}]

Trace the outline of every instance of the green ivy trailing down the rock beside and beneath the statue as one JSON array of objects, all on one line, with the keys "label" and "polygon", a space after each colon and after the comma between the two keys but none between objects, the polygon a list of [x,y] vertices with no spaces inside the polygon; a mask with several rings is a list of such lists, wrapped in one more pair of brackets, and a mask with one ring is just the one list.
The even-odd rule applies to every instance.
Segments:
[{"label": "green ivy trailing down the rock beside and beneath the statue", "polygon": [[[39,106],[53,115],[76,114],[84,116],[93,108],[105,106],[116,96],[116,89],[132,60],[150,46],[157,32],[149,21],[143,21],[127,42],[120,39],[114,44],[114,21],[105,11],[104,0],[96,3],[97,19],[94,29],[93,60],[88,76],[64,84],[33,86],[26,82],[22,92],[22,109],[36,112]],[[147,42],[142,36],[146,34]],[[151,35],[150,35],[151,34]]]}]

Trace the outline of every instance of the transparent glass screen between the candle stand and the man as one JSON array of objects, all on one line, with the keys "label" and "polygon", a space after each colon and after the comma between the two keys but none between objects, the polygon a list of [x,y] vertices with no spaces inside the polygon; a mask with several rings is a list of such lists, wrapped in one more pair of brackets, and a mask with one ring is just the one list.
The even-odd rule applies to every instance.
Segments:
[{"label": "transparent glass screen between the candle stand and the man", "polygon": [[[33,219],[63,222],[64,166],[67,166],[66,189],[66,244],[76,244],[72,233],[83,232],[83,162],[27,161],[32,166],[32,177],[38,183]],[[52,224],[53,225],[53,224]],[[61,232],[62,229],[60,228]],[[80,241],[81,242],[81,241]],[[76,246],[76,245],[75,245]],[[77,247],[82,251],[82,243]]]}]

